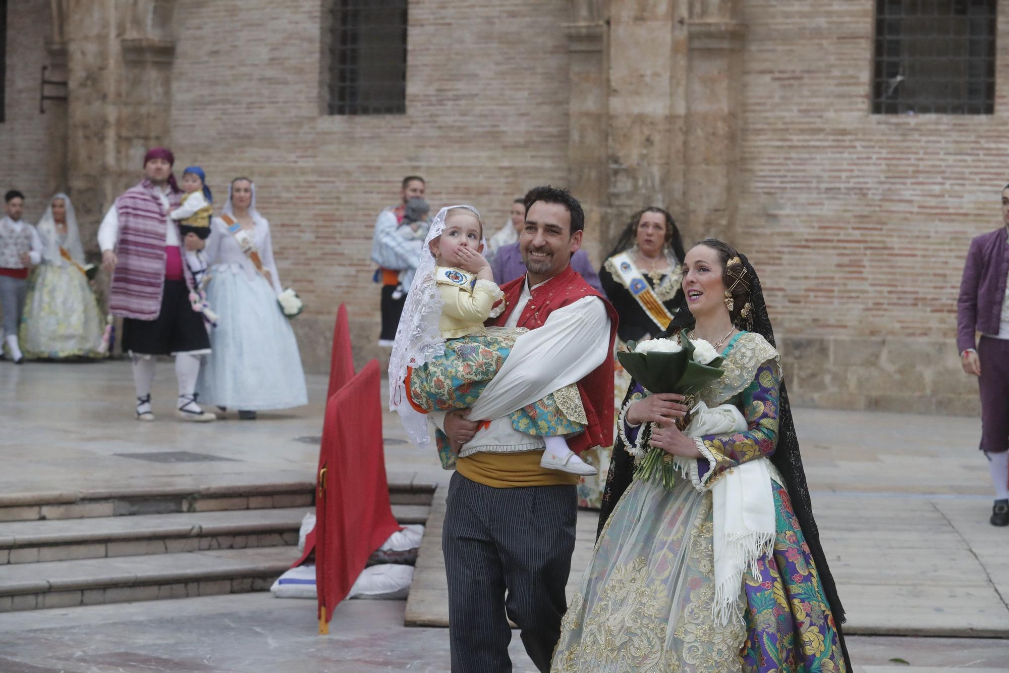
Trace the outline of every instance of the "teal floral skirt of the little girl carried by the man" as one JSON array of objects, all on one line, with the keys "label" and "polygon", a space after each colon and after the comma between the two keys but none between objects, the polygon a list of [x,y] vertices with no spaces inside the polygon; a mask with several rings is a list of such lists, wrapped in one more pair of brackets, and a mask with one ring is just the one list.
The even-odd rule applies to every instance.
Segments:
[{"label": "teal floral skirt of the little girl carried by the man", "polygon": [[[483,336],[446,340],[444,355],[410,372],[408,383],[414,405],[423,412],[472,406],[504,364],[522,331],[491,327]],[[537,437],[574,435],[585,429],[585,409],[574,385],[513,411],[509,417],[517,430]]]}]

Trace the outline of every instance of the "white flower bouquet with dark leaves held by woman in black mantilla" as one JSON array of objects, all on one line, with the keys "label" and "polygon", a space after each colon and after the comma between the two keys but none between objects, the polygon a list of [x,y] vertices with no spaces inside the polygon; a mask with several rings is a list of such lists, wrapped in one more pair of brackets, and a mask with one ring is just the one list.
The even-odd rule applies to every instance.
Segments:
[{"label": "white flower bouquet with dark leaves held by woman in black mantilla", "polygon": [[[694,394],[705,384],[721,378],[721,358],[710,344],[698,339],[691,341],[682,330],[672,339],[653,339],[642,344],[630,342],[629,353],[618,353],[624,369],[651,393],[679,393],[687,406],[696,403]],[[690,413],[680,418],[681,430],[690,422]],[[643,427],[642,432],[651,432]],[[662,483],[671,488],[676,475],[673,456],[662,449],[652,448],[642,460],[639,471],[645,480],[661,472]]]}]

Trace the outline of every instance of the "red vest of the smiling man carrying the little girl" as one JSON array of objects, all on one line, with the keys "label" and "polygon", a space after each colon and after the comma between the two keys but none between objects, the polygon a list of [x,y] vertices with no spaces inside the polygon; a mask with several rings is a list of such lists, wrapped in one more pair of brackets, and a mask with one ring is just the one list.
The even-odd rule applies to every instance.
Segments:
[{"label": "red vest of the smiling man carrying the little girl", "polygon": [[[496,318],[487,321],[487,326],[503,326],[509,316],[519,302],[526,277],[522,276],[511,283],[501,286],[504,293],[504,311]],[[535,329],[543,326],[552,311],[582,299],[583,297],[598,297],[606,307],[609,315],[609,349],[606,359],[601,365],[578,381],[578,392],[581,393],[581,403],[585,407],[585,417],[588,425],[585,431],[568,439],[568,447],[580,454],[592,447],[608,447],[613,444],[613,340],[616,336],[616,311],[606,298],[596,292],[585,282],[578,272],[568,265],[546,283],[531,290],[533,295],[525,310],[519,316],[520,327]],[[564,348],[563,344],[558,348]],[[549,356],[545,356],[549,357]]]}]

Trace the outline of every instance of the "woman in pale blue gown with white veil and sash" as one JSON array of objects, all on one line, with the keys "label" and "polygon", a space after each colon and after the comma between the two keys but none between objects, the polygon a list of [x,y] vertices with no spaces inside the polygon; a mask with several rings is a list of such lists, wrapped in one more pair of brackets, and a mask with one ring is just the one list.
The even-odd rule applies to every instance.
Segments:
[{"label": "woman in pale blue gown with white veil and sash", "polygon": [[246,420],[256,411],[307,404],[298,342],[276,300],[282,290],[269,222],[256,210],[248,178],[232,180],[211,229],[204,251],[207,301],[219,317],[198,389]]}]

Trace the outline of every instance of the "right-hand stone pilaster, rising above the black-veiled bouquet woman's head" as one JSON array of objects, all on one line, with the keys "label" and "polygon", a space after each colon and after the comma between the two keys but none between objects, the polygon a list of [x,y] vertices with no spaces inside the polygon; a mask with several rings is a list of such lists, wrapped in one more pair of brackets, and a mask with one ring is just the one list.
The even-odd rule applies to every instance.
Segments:
[{"label": "right-hand stone pilaster, rising above the black-veiled bouquet woman's head", "polygon": [[739,13],[739,0],[690,0],[682,167],[693,239],[733,238],[746,35]]}]

